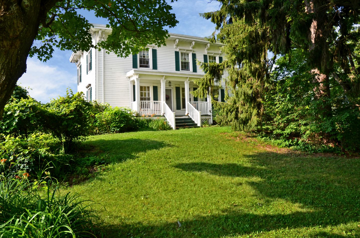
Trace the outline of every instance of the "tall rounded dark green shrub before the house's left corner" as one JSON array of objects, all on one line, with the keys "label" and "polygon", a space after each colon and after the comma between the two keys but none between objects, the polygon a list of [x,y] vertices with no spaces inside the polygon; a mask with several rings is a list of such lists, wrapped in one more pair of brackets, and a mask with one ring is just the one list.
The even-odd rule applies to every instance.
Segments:
[{"label": "tall rounded dark green shrub before the house's left corner", "polygon": [[68,90],[65,97],[58,97],[46,105],[49,119],[45,127],[59,139],[64,152],[69,152],[74,143],[89,136],[93,124],[91,103],[82,92],[73,94]]}]

